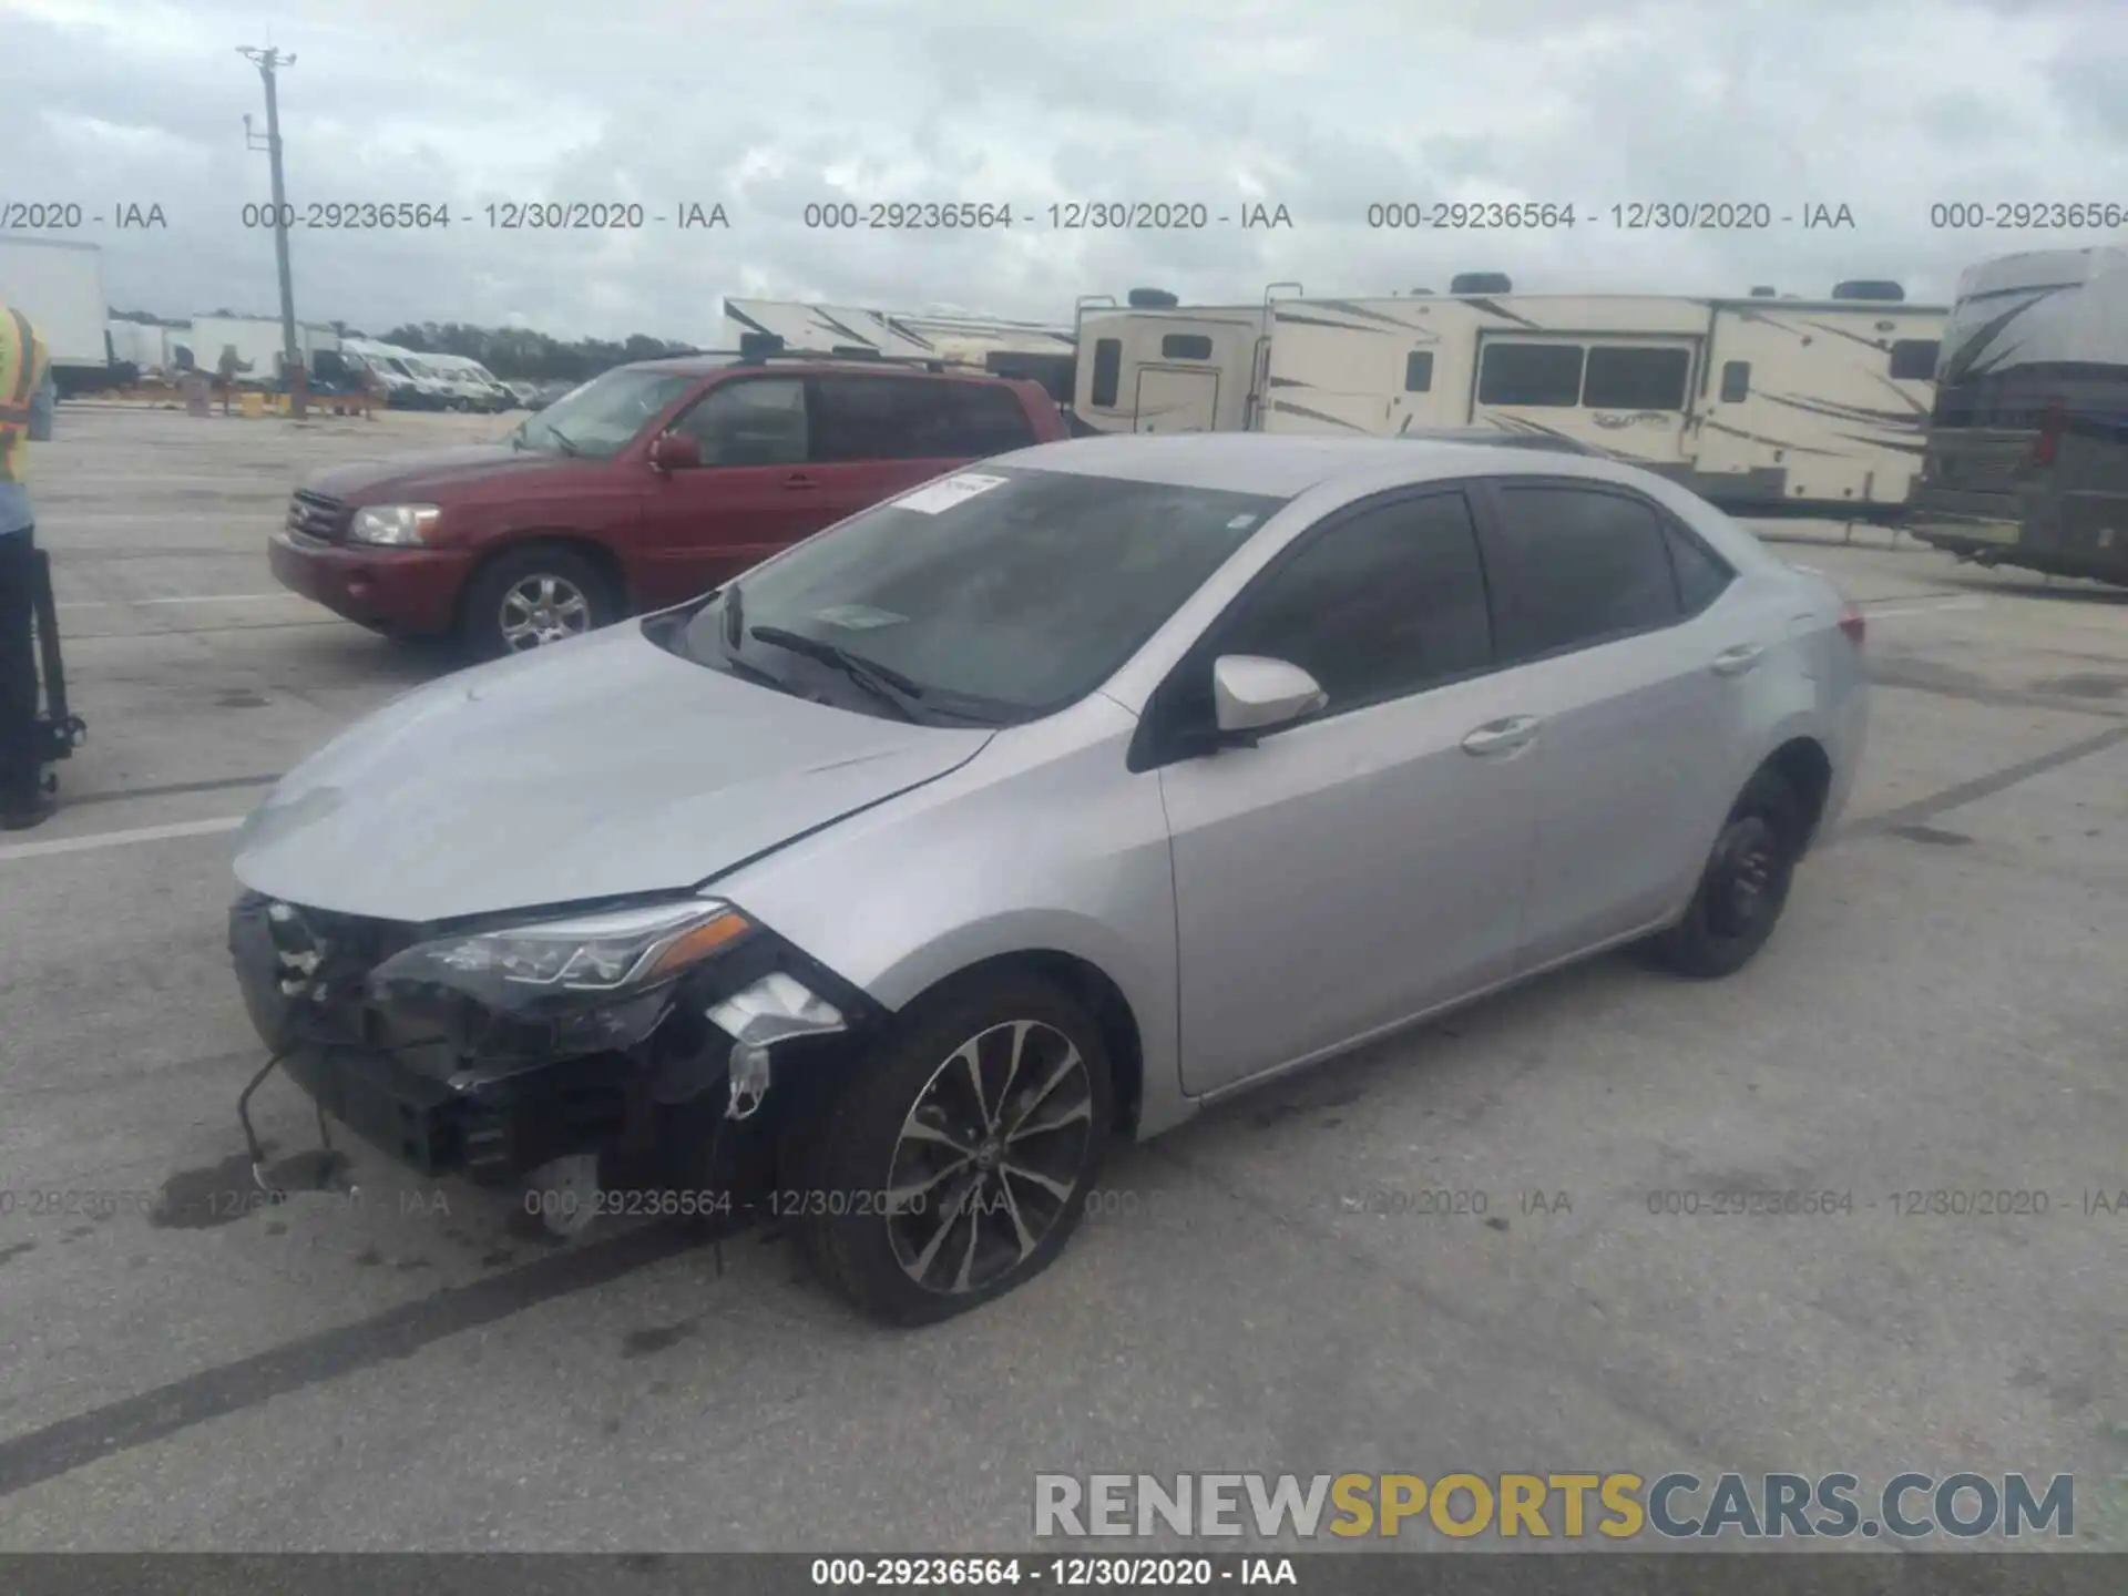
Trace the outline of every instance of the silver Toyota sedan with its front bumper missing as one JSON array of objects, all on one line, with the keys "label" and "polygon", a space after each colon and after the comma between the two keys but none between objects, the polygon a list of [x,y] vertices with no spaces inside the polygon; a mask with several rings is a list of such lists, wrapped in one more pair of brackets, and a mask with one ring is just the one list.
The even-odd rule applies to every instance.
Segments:
[{"label": "silver Toyota sedan with its front bumper missing", "polygon": [[1004,455],[289,772],[236,849],[238,1109],[279,1066],[558,1230],[789,1217],[936,1319],[1055,1258],[1113,1134],[1617,943],[1741,968],[1853,781],[1860,643],[1607,460]]}]

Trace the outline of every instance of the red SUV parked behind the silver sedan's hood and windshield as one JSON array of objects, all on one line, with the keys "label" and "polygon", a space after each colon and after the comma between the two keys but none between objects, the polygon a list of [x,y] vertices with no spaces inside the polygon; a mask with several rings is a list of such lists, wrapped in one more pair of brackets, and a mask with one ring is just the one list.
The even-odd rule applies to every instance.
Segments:
[{"label": "red SUV parked behind the silver sedan's hood and windshield", "polygon": [[677,604],[930,477],[1062,436],[1036,383],[936,364],[649,360],[504,443],[313,475],[272,572],[379,632],[500,655]]}]

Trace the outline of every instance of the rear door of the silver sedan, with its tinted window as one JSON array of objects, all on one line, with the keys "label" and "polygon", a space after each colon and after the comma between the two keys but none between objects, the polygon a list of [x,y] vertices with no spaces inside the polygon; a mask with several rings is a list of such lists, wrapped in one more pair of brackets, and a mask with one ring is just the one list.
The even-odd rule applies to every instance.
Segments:
[{"label": "rear door of the silver sedan, with its tinted window", "polygon": [[1536,719],[1541,781],[1524,970],[1677,909],[1736,796],[1747,694],[1779,641],[1734,572],[1628,487],[1496,479],[1479,492],[1500,675]]}]

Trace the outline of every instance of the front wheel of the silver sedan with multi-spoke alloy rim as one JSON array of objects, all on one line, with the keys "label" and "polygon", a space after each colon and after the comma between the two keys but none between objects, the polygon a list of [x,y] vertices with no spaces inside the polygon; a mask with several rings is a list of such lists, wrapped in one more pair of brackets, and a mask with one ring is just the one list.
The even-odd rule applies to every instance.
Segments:
[{"label": "front wheel of the silver sedan with multi-spoke alloy rim", "polygon": [[[1015,1036],[1021,1079],[1011,1075]],[[990,1115],[979,1136],[953,1115],[972,1109],[970,1043]],[[1043,1083],[1051,1090],[1036,1094]],[[858,1062],[821,1115],[802,1183],[804,1253],[843,1298],[887,1324],[936,1324],[1004,1296],[1049,1268],[1085,1215],[1109,1145],[1111,1083],[1100,1028],[1047,981],[979,977],[938,994]],[[960,1149],[979,1158],[951,1173]],[[885,1194],[926,1181],[924,1207],[890,1211]]]}]

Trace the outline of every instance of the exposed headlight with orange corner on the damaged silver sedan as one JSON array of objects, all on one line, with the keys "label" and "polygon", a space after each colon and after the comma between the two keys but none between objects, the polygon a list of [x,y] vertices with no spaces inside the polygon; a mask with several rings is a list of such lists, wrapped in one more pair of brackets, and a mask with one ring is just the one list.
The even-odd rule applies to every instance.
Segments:
[{"label": "exposed headlight with orange corner on the damaged silver sedan", "polygon": [[[438,936],[368,977],[372,1002],[402,1013],[475,1007],[475,1019],[528,1026],[526,1047],[626,1049],[664,1019],[681,977],[753,934],[715,898],[609,909]],[[517,1051],[511,1036],[487,1045]]]}]

